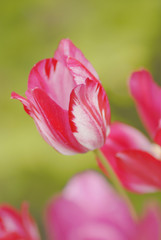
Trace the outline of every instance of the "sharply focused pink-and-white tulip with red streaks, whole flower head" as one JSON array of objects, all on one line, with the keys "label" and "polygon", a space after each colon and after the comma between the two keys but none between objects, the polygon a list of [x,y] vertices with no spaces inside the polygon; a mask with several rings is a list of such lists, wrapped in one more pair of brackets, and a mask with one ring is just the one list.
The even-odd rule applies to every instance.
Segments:
[{"label": "sharply focused pink-and-white tulip with red streaks, whole flower head", "polygon": [[104,145],[109,102],[94,68],[70,40],[60,42],[54,58],[32,68],[26,96],[12,93],[58,152],[71,155]]}]

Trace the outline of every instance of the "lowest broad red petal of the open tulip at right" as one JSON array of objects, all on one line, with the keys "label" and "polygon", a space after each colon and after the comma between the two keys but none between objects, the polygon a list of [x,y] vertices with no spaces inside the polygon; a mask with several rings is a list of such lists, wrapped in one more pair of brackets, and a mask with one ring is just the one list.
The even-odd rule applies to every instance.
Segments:
[{"label": "lowest broad red petal of the open tulip at right", "polygon": [[127,189],[150,193],[161,189],[161,161],[139,150],[117,153],[118,175]]}]

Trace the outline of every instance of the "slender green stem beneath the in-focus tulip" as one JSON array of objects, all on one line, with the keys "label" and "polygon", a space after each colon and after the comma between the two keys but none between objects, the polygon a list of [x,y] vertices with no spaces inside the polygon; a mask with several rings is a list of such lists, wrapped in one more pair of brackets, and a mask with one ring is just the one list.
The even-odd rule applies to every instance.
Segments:
[{"label": "slender green stem beneath the in-focus tulip", "polygon": [[109,174],[109,178],[111,180],[111,182],[113,183],[114,187],[116,188],[116,190],[118,191],[118,193],[124,198],[124,200],[126,201],[126,203],[129,206],[129,209],[132,213],[132,216],[137,219],[137,214],[136,211],[126,193],[126,191],[124,190],[124,187],[122,185],[122,183],[120,182],[118,176],[116,175],[115,171],[113,170],[111,164],[109,163],[109,161],[103,156],[103,154],[101,153],[100,150],[96,149],[94,150],[95,155],[97,156],[97,158],[99,159],[99,161],[102,163],[102,165],[105,167],[105,169],[107,170],[108,174]]}]

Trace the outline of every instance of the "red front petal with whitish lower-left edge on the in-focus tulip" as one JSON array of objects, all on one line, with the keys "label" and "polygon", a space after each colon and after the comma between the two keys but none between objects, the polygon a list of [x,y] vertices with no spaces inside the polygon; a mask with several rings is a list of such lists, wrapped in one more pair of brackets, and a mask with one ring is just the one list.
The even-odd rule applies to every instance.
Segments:
[{"label": "red front petal with whitish lower-left edge on the in-focus tulip", "polygon": [[72,134],[68,112],[41,89],[34,89],[32,94],[36,109],[33,109],[33,118],[45,141],[65,155],[86,152],[86,148],[82,147]]}]

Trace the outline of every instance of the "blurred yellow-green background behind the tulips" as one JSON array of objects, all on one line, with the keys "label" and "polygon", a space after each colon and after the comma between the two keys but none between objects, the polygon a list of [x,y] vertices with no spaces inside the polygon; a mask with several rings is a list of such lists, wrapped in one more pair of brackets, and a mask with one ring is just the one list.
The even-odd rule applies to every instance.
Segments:
[{"label": "blurred yellow-green background behind the tulips", "polygon": [[[161,85],[161,1],[1,0],[0,32],[0,202],[20,207],[27,200],[44,234],[47,200],[74,173],[97,164],[92,153],[67,157],[48,146],[11,91],[25,95],[32,66],[70,38],[98,72],[112,120],[144,131],[127,79],[145,67]],[[130,196],[138,210],[145,199],[161,197]]]}]

